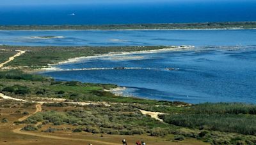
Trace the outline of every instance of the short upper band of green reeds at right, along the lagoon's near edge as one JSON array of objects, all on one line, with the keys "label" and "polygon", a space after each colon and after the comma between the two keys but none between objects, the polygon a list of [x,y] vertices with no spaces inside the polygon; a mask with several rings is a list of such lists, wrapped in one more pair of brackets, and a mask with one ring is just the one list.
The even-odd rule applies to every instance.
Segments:
[{"label": "short upper band of green reeds at right, along the lagoon's near edge", "polygon": [[[244,103],[205,103],[198,104],[190,110],[196,114],[256,114],[256,106]],[[189,112],[190,112],[189,111]]]}]

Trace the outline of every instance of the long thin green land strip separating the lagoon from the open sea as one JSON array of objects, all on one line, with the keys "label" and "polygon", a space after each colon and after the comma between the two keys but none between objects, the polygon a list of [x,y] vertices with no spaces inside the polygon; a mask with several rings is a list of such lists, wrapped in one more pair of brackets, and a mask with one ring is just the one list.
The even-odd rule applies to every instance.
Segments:
[{"label": "long thin green land strip separating the lagoon from the open sea", "polygon": [[252,29],[256,22],[207,22],[176,24],[119,24],[119,25],[1,25],[1,30],[119,30],[119,29]]}]

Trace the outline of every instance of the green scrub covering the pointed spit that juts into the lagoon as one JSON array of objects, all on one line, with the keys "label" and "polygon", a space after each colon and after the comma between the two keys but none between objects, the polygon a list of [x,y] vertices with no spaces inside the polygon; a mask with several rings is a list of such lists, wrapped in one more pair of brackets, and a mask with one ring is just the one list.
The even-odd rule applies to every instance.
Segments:
[{"label": "green scrub covering the pointed spit that juts into the lagoon", "polygon": [[157,50],[168,46],[0,46],[0,49],[26,50],[6,66],[22,69],[40,69],[75,57],[86,57],[109,52],[134,52]]}]

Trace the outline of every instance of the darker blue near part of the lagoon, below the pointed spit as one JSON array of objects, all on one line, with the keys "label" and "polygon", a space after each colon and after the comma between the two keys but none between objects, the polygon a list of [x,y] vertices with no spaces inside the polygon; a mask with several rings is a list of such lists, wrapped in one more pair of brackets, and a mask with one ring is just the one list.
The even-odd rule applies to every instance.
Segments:
[{"label": "darker blue near part of the lagoon, below the pointed spit", "polygon": [[[256,103],[256,46],[239,46],[236,49],[232,46],[228,49],[195,48],[188,51],[124,55],[122,59],[104,57],[57,67],[142,69],[58,71],[44,74],[61,80],[126,86],[128,89],[125,95],[148,99],[191,103]],[[169,67],[177,70],[166,70]]]}]

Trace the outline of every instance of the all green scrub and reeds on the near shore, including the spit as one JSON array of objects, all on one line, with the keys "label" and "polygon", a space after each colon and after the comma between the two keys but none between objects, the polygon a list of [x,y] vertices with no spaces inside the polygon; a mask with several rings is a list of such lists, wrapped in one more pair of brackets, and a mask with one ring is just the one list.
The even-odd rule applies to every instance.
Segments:
[{"label": "all green scrub and reeds on the near shore, including the spit", "polygon": [[[24,67],[27,71],[47,67],[48,64],[72,57],[164,47],[166,46],[72,47],[70,49],[70,47],[0,46],[3,49],[28,50],[28,53],[8,64]],[[51,97],[64,99],[67,102],[97,102],[87,106],[65,102],[44,104],[42,112],[32,114],[24,121],[14,121],[15,124],[25,123],[26,126],[22,128],[24,131],[57,132],[67,127],[67,130],[74,134],[90,132],[116,135],[144,134],[156,137],[174,134],[173,141],[192,137],[211,144],[256,144],[256,106],[253,104],[222,102],[193,105],[184,102],[122,97],[105,91],[115,87],[116,85],[110,84],[55,81],[18,69],[0,71],[0,92],[4,95],[27,100]],[[1,100],[0,107],[12,110],[10,114],[13,118],[31,114],[31,110],[35,109],[35,103],[13,103],[10,100]],[[164,122],[141,114],[140,109],[164,113],[159,116]],[[12,118],[2,117],[0,114],[1,123],[13,123],[12,120],[10,121]]]}]

